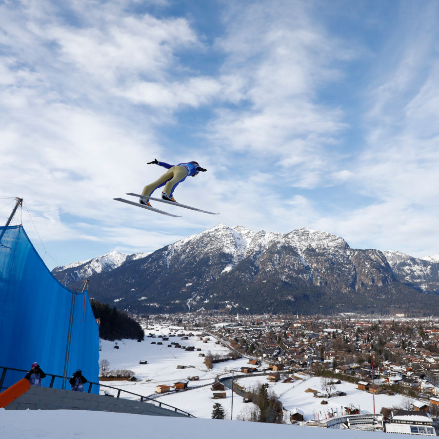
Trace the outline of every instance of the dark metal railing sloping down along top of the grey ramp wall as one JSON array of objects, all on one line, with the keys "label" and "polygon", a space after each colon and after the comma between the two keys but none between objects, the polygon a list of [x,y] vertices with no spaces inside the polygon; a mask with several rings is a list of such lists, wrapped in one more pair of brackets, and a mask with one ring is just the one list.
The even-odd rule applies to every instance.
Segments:
[{"label": "dark metal railing sloping down along top of the grey ramp wall", "polygon": [[[0,392],[7,389],[7,387],[3,386],[3,384],[4,384],[4,381],[6,379],[6,374],[8,371],[23,372],[24,375],[27,374],[27,372],[28,372],[27,370],[23,370],[23,369],[16,369],[13,367],[0,366],[0,372],[1,372],[1,374],[0,374]],[[21,378],[24,378],[24,375]],[[47,373],[46,373],[45,378],[50,378],[50,384],[48,386],[42,386],[42,387],[49,387],[49,388],[54,388],[55,379],[57,379],[57,378],[62,379],[62,380],[70,379],[69,377],[62,377],[61,375],[47,374]],[[45,378],[43,378],[43,379],[45,379]],[[56,388],[58,388],[58,387],[56,387]],[[111,389],[111,390],[106,390],[106,389]],[[150,397],[146,397],[146,396],[139,395],[137,393],[129,392],[128,390],[118,389],[117,387],[107,386],[105,384],[100,384],[98,382],[87,381],[87,383],[84,384],[84,391],[86,391],[87,393],[95,393],[95,392],[92,392],[92,390],[97,391],[99,395],[104,395],[107,397],[129,399],[132,401],[139,401],[139,402],[148,402],[148,403],[154,404],[156,407],[171,410],[171,411],[176,412],[176,413],[181,413],[189,418],[195,418],[194,415],[191,415],[190,413],[185,412],[184,410],[181,410],[181,409],[174,407],[172,405],[166,404],[165,402],[157,401],[157,400],[150,398]]]}]

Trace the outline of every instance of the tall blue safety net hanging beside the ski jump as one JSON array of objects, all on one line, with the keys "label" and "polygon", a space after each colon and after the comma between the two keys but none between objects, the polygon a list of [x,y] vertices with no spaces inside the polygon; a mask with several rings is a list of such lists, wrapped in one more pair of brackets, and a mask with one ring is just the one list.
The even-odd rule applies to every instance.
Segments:
[{"label": "tall blue safety net hanging beside the ski jump", "polygon": [[[22,226],[0,227],[0,366],[29,370],[33,362],[46,374],[70,377],[80,369],[98,382],[98,324],[88,291],[73,292],[55,279]],[[8,371],[4,378],[3,388],[24,377]],[[63,379],[54,387],[63,388]]]}]

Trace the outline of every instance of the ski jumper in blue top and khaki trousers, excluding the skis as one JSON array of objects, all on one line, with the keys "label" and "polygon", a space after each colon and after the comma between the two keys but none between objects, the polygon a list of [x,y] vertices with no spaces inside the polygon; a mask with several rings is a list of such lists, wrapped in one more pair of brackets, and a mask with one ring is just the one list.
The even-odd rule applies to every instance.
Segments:
[{"label": "ski jumper in blue top and khaki trousers, excluding the skis", "polygon": [[[161,198],[163,200],[174,201],[173,197],[174,190],[181,181],[184,181],[186,177],[195,177],[200,172],[206,172],[206,169],[202,168],[196,161],[189,161],[188,163],[179,163],[178,165],[170,165],[163,161],[158,161],[154,159],[148,162],[148,164],[157,164],[163,166],[167,171],[156,181],[151,184],[147,184],[142,191],[142,195],[145,197],[150,197],[151,194],[159,187],[164,186],[163,192],[161,193]],[[140,198],[140,204],[145,204],[151,206],[149,201]]]}]

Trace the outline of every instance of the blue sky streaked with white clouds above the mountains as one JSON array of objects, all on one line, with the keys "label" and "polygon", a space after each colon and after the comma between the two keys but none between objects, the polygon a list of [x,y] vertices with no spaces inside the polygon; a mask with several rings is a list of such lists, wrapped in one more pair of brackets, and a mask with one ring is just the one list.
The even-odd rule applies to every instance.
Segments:
[{"label": "blue sky streaked with white clouds above the mountains", "polygon": [[[3,1],[0,197],[24,199],[50,268],[218,222],[437,254],[438,17],[437,1]],[[113,201],[161,175],[154,158],[207,168],[174,195],[221,215]]]}]

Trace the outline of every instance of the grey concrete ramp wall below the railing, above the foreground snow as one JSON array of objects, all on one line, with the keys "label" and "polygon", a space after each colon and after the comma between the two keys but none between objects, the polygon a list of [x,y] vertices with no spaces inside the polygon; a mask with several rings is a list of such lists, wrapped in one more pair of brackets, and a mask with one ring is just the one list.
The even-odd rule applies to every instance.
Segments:
[{"label": "grey concrete ramp wall below the railing, above the foreground snow", "polygon": [[135,415],[188,417],[177,411],[157,407],[150,402],[131,401],[129,399],[37,386],[31,386],[25,394],[15,399],[7,405],[5,409],[97,410],[103,412],[133,413]]}]

